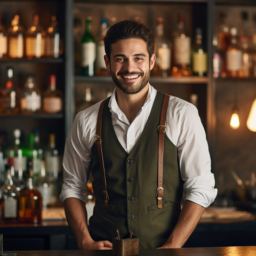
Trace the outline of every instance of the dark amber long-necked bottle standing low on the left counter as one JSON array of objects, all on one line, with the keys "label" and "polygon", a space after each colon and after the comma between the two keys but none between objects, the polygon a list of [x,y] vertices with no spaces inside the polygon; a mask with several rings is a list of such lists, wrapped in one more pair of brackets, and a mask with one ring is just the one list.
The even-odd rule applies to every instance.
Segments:
[{"label": "dark amber long-necked bottle standing low on the left counter", "polygon": [[42,222],[42,195],[33,185],[33,163],[28,161],[27,186],[20,191],[19,222]]}]

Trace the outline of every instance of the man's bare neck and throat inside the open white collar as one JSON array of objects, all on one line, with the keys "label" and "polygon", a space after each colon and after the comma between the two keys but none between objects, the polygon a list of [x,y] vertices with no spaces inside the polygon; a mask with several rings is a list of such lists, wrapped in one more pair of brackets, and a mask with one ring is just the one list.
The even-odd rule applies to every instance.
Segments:
[{"label": "man's bare neck and throat inside the open white collar", "polygon": [[144,105],[148,93],[148,85],[136,94],[126,94],[116,87],[116,98],[119,108],[123,111],[130,124]]}]

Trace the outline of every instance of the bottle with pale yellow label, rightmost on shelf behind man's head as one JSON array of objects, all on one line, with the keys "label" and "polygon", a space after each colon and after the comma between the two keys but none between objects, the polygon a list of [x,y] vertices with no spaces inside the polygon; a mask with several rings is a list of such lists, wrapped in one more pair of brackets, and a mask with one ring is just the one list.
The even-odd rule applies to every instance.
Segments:
[{"label": "bottle with pale yellow label, rightmost on shelf behind man's head", "polygon": [[206,76],[207,53],[202,44],[201,28],[196,28],[195,42],[192,47],[192,69],[195,76]]}]

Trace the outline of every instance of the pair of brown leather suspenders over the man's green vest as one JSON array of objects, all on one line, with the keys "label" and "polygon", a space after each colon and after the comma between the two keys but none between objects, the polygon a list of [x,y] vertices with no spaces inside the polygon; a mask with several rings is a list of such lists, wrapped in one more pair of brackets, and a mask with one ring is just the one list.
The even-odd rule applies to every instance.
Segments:
[{"label": "pair of brown leather suspenders over the man's green vest", "polygon": [[[104,162],[103,162],[103,155],[102,155],[102,147],[101,147],[101,122],[102,122],[102,114],[103,114],[103,108],[105,105],[106,100],[103,100],[101,102],[99,113],[98,113],[98,119],[97,119],[97,128],[96,128],[96,135],[95,135],[95,145],[97,146],[98,151],[98,157],[99,157],[99,164],[100,164],[100,171],[101,171],[101,178],[102,178],[102,187],[103,187],[103,207],[106,208],[109,197],[107,192],[107,183],[106,183],[106,173],[104,168]],[[161,110],[161,117],[160,117],[160,123],[158,126],[158,181],[157,181],[157,191],[156,191],[156,197],[157,197],[157,205],[158,209],[163,208],[163,194],[164,194],[164,188],[163,188],[163,162],[164,162],[164,133],[166,130],[165,124],[165,118],[166,118],[166,112],[167,112],[167,106],[169,102],[169,95],[164,95],[163,100],[163,106]]]}]

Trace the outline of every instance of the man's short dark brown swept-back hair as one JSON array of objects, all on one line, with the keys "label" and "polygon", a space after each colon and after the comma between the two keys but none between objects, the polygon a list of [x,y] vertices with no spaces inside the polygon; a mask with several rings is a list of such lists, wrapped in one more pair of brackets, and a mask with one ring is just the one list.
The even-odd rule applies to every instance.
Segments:
[{"label": "man's short dark brown swept-back hair", "polygon": [[155,50],[155,36],[152,31],[142,23],[133,20],[123,20],[112,25],[104,38],[105,52],[110,60],[111,44],[121,39],[139,38],[147,44],[149,59]]}]

